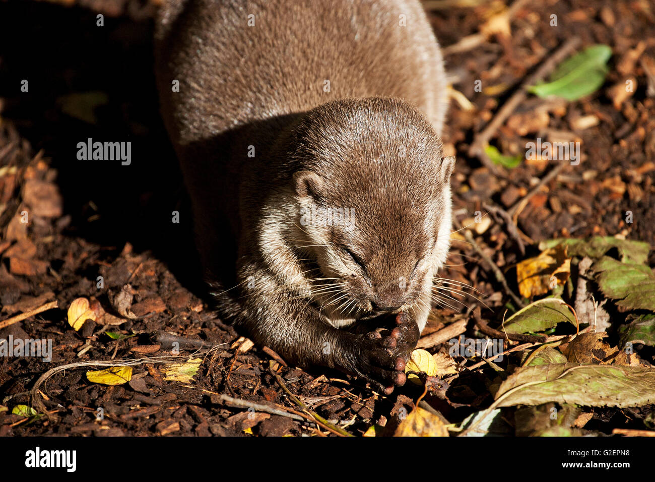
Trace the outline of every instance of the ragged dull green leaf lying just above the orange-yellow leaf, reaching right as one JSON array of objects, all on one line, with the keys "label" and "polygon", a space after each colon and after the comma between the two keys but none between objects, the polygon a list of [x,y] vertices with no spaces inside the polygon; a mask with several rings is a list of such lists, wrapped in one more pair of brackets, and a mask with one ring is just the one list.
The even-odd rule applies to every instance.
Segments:
[{"label": "ragged dull green leaf lying just above the orange-yellow leaf, reaching right", "polygon": [[648,260],[648,251],[650,250],[648,243],[643,241],[627,241],[612,236],[595,236],[588,239],[549,239],[539,243],[539,249],[544,251],[561,244],[567,245],[569,256],[578,256],[579,258],[584,258],[584,256],[600,258],[610,249],[616,248],[622,262],[637,264],[643,264]]}]

